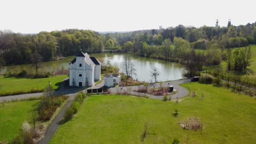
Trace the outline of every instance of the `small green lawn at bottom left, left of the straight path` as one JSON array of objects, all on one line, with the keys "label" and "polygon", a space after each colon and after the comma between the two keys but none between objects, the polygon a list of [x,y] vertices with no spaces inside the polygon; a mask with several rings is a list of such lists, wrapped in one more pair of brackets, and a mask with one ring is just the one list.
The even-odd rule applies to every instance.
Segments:
[{"label": "small green lawn at bottom left, left of the straight path", "polygon": [[5,103],[0,106],[0,142],[11,141],[18,135],[24,121],[28,121],[30,111],[37,105],[39,100],[16,101]]}]

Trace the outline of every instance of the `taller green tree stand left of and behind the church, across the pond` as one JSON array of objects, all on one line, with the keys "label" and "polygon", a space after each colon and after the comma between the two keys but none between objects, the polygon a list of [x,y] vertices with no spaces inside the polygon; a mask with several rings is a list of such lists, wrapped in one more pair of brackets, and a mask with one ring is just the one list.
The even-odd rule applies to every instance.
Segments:
[{"label": "taller green tree stand left of and behind the church, across the pond", "polygon": [[33,53],[42,56],[42,61],[71,56],[80,50],[101,51],[104,36],[93,31],[67,29],[63,31],[20,34],[0,31],[0,63],[21,64],[33,60]]}]

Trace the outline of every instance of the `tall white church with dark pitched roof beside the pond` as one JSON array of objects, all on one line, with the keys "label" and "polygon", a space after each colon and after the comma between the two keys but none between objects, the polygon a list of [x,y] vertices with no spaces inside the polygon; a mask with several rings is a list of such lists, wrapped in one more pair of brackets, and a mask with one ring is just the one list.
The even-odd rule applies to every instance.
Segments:
[{"label": "tall white church with dark pitched roof beside the pond", "polygon": [[80,51],[69,63],[69,86],[94,86],[98,80],[101,80],[101,62]]}]

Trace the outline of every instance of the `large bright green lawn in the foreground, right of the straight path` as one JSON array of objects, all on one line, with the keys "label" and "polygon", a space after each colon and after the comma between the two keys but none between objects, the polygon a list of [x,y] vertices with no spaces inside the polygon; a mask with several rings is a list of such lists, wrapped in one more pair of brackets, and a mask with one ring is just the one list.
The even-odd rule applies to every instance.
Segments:
[{"label": "large bright green lawn in the foreground, right of the straight path", "polygon": [[[121,95],[90,97],[50,143],[172,143],[173,139],[180,143],[255,143],[253,97],[196,82],[182,86],[195,90],[197,96],[178,104]],[[178,117],[172,116],[174,109]],[[183,130],[178,125],[191,117],[201,119],[203,130]],[[145,123],[147,136],[141,142]]]}]

